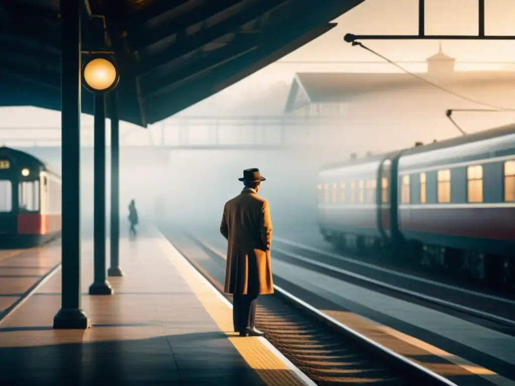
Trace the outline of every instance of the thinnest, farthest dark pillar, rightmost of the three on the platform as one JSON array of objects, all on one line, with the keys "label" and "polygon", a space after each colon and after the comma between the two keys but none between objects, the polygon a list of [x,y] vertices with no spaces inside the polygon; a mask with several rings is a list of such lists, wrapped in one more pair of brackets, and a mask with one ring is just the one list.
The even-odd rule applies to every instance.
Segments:
[{"label": "thinnest, farthest dark pillar, rightmost of the three on the platform", "polygon": [[110,94],[109,115],[111,117],[111,266],[107,274],[109,276],[123,276],[120,268],[120,170],[119,170],[119,150],[120,150],[120,131],[118,120],[118,104],[116,93]]}]

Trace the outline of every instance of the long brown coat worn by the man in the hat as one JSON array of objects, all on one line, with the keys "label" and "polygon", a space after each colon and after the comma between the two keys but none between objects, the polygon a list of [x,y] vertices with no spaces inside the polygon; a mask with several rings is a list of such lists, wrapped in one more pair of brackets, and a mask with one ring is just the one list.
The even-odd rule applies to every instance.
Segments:
[{"label": "long brown coat worn by the man in the hat", "polygon": [[268,201],[244,188],[224,206],[220,233],[227,239],[224,291],[231,294],[273,293]]}]

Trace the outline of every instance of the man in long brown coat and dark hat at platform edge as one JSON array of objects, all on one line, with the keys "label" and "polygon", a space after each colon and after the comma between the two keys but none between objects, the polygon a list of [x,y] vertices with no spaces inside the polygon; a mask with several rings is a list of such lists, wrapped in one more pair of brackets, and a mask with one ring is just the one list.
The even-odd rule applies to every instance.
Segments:
[{"label": "man in long brown coat and dark hat at platform edge", "polygon": [[266,179],[259,169],[243,171],[245,187],[227,201],[220,233],[227,239],[226,293],[233,295],[234,331],[240,336],[263,336],[254,326],[258,295],[273,293],[270,244],[272,221],[268,201],[258,196]]}]

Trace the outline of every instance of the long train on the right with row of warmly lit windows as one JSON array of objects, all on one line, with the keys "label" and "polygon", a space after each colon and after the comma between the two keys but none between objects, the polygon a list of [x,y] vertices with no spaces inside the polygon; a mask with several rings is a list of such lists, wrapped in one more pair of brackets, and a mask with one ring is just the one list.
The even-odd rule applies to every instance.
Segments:
[{"label": "long train on the right with row of warmly lit windows", "polygon": [[318,223],[345,250],[515,286],[515,125],[319,172]]}]

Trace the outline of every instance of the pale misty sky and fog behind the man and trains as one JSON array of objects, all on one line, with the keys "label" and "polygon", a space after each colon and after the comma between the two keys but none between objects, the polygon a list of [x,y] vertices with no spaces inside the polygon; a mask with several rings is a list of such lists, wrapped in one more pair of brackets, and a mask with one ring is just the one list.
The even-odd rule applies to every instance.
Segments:
[{"label": "pale misty sky and fog behind the man and trains", "polygon": [[[427,34],[477,33],[477,2],[431,0],[426,3]],[[495,104],[508,110],[502,113],[456,113],[456,121],[469,133],[513,122],[515,114],[509,109],[515,108],[515,42],[444,41],[441,50],[456,59],[456,72],[507,74],[495,81],[488,77],[479,81],[471,76],[469,81],[459,85],[449,85],[444,79],[434,80],[484,104],[472,103],[414,80],[409,87],[393,85],[342,98],[338,102],[338,114],[319,114],[313,118],[306,115],[306,109],[288,113],[287,119],[305,119],[305,123],[285,125],[282,135],[287,147],[284,149],[179,148],[183,141],[181,135],[184,135],[181,133],[187,132],[190,144],[209,145],[215,130],[219,131],[220,137],[225,137],[224,141],[233,144],[251,144],[255,131],[259,132],[261,142],[278,143],[281,127],[279,124],[274,126],[273,122],[285,114],[286,101],[297,73],[402,73],[370,52],[345,43],[343,37],[348,32],[415,33],[417,5],[417,0],[367,0],[335,20],[338,26],[319,39],[166,121],[147,129],[121,122],[122,218],[127,218],[127,205],[135,199],[143,223],[161,216],[168,221],[217,229],[224,203],[243,187],[237,180],[242,177],[243,169],[258,167],[267,178],[260,195],[270,202],[274,226],[314,223],[317,170],[322,165],[346,161],[350,153],[365,156],[366,152],[381,153],[413,146],[416,141],[427,143],[460,135],[445,117],[447,109],[477,109],[485,108],[484,104]],[[487,34],[515,35],[514,17],[515,2],[512,0],[486,0]],[[436,41],[364,43],[415,73],[425,73],[426,59],[440,49]],[[511,72],[513,77],[509,75]],[[346,84],[340,87],[344,95]],[[324,111],[323,106],[321,111]],[[202,123],[197,119],[202,116],[211,118]],[[252,124],[248,117],[259,116],[274,119],[271,124],[256,129],[259,125]],[[228,124],[229,117],[247,118],[235,126]],[[83,226],[91,227],[93,117],[83,114],[81,119],[82,216]],[[184,129],[184,122],[190,122],[187,129]],[[42,137],[46,138],[45,144],[27,142],[28,138]],[[107,137],[109,146],[109,129]],[[20,141],[13,138],[20,138]],[[60,150],[56,149],[59,141],[59,112],[34,107],[0,109],[0,145],[34,154],[59,171]],[[170,148],[158,146],[160,143]],[[48,146],[54,150],[49,152]],[[109,168],[109,152],[107,166]],[[109,172],[107,174],[109,200]],[[164,211],[156,209],[160,199],[165,202]],[[107,206],[109,210],[109,202]]]}]

